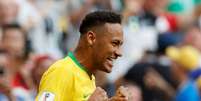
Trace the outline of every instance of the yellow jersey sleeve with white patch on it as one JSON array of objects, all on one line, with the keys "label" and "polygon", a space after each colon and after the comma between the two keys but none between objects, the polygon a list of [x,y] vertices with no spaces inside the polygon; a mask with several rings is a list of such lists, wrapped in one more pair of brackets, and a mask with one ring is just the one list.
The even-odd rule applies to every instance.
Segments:
[{"label": "yellow jersey sleeve with white patch on it", "polygon": [[36,101],[70,101],[72,83],[72,71],[56,63],[43,75]]}]

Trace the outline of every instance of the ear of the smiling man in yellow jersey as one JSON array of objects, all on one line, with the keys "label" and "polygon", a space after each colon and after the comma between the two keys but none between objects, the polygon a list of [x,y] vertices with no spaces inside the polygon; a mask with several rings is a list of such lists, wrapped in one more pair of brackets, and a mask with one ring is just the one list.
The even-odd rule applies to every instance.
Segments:
[{"label": "ear of the smiling man in yellow jersey", "polygon": [[96,34],[93,31],[87,32],[87,42],[89,46],[92,46],[96,41]]}]

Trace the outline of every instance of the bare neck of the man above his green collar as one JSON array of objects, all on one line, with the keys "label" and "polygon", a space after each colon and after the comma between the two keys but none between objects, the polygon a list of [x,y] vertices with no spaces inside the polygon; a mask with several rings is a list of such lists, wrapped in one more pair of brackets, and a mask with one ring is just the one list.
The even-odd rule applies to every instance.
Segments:
[{"label": "bare neck of the man above his green collar", "polygon": [[81,45],[78,45],[78,47],[74,51],[74,55],[76,59],[79,61],[79,63],[84,66],[84,68],[87,70],[87,73],[89,75],[94,74],[95,69],[93,66],[93,62],[91,59],[91,52],[85,48],[81,47]]}]

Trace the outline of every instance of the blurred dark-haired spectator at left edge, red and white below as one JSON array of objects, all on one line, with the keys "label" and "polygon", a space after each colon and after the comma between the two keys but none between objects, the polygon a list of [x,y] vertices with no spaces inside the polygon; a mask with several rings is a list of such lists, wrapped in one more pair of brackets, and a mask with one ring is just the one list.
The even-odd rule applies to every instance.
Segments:
[{"label": "blurred dark-haired spectator at left edge, red and white below", "polygon": [[[6,75],[8,86],[17,99],[28,100],[32,88],[30,73],[25,69],[31,53],[31,45],[23,28],[18,24],[5,24],[2,27],[2,50],[6,53],[8,64]],[[21,92],[21,93],[19,93]]]}]

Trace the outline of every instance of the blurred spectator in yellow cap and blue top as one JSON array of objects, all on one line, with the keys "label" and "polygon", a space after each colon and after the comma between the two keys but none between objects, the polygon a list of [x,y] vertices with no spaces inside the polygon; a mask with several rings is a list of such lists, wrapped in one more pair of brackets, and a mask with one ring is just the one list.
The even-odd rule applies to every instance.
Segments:
[{"label": "blurred spectator in yellow cap and blue top", "polygon": [[200,101],[198,87],[188,77],[189,72],[198,67],[198,50],[191,46],[169,47],[167,56],[172,60],[171,71],[177,81],[174,101]]}]

